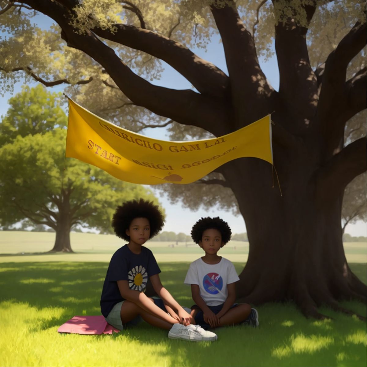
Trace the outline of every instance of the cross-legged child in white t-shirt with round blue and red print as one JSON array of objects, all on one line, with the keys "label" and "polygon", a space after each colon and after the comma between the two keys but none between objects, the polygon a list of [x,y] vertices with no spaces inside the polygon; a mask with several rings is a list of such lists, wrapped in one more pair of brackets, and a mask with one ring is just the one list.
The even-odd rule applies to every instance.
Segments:
[{"label": "cross-legged child in white t-shirt with round blue and red print", "polygon": [[191,316],[202,327],[219,327],[238,323],[258,326],[258,313],[248,304],[235,304],[235,282],[239,280],[232,262],[218,256],[231,236],[221,218],[201,218],[191,230],[191,237],[205,251],[205,256],[190,264],[185,284],[191,285]]}]

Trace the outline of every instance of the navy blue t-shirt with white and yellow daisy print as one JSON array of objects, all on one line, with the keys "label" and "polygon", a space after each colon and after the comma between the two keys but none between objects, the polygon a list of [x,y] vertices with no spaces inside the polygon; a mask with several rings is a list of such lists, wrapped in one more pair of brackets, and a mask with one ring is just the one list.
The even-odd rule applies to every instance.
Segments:
[{"label": "navy blue t-shirt with white and yellow daisy print", "polygon": [[142,246],[139,255],[134,254],[127,245],[112,255],[103,283],[101,312],[107,317],[113,306],[124,300],[120,294],[117,280],[128,280],[132,290],[145,291],[148,278],[159,274],[157,261],[148,248]]}]

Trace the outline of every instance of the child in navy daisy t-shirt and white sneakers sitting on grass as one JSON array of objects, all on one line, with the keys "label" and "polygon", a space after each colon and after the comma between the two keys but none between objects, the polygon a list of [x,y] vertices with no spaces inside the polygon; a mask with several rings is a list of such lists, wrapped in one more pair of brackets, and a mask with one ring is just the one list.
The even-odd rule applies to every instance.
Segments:
[{"label": "child in navy daisy t-shirt and white sneakers sitting on grass", "polygon": [[[163,224],[163,215],[152,202],[132,200],[117,207],[112,227],[116,236],[128,243],[110,260],[101,295],[102,315],[119,330],[123,324],[136,323],[140,316],[150,325],[170,330],[172,339],[217,340],[214,333],[193,325],[192,316],[162,286],[152,251],[142,246]],[[144,294],[148,278],[160,299]]]}]

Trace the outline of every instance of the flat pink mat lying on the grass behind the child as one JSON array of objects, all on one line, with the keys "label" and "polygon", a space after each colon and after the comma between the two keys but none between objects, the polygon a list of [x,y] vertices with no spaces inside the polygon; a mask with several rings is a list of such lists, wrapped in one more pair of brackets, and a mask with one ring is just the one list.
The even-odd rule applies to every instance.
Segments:
[{"label": "flat pink mat lying on the grass behind the child", "polygon": [[62,324],[57,331],[59,333],[73,333],[83,335],[112,334],[120,330],[107,323],[105,318],[100,316],[74,316],[72,319]]}]

